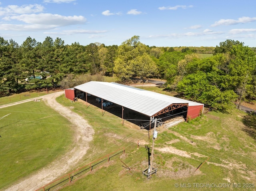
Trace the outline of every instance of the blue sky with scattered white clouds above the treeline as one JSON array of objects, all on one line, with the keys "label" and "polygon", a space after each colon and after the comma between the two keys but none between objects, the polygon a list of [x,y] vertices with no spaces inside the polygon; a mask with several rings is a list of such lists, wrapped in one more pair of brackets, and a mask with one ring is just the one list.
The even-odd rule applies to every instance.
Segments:
[{"label": "blue sky with scattered white clouds above the treeline", "polygon": [[157,47],[226,39],[256,47],[255,7],[255,0],[0,0],[0,37],[120,45],[138,35]]}]

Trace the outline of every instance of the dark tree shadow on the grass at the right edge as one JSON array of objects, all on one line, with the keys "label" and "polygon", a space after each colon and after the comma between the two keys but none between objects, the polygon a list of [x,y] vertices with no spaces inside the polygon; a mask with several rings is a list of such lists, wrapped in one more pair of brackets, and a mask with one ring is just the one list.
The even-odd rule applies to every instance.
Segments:
[{"label": "dark tree shadow on the grass at the right edge", "polygon": [[256,112],[248,112],[249,114],[242,118],[245,125],[242,130],[256,141]]}]

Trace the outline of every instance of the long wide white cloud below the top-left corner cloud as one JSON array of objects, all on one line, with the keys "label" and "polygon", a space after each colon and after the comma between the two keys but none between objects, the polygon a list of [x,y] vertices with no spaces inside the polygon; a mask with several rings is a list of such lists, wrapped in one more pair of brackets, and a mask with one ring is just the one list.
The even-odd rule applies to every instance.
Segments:
[{"label": "long wide white cloud below the top-left corner cloud", "polygon": [[18,20],[27,24],[40,24],[51,26],[69,26],[76,24],[84,24],[86,18],[83,16],[62,16],[58,14],[23,14],[19,16],[9,16],[3,18],[4,20]]}]

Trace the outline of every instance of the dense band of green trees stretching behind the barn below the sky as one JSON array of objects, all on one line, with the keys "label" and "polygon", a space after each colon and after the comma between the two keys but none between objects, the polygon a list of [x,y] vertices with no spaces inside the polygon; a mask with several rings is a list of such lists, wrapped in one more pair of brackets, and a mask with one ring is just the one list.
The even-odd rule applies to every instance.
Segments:
[{"label": "dense band of green trees stretching behind the barn below the sky", "polygon": [[[255,48],[234,40],[216,47],[149,47],[139,36],[121,45],[65,45],[51,37],[28,37],[22,45],[0,37],[0,96],[24,89],[74,87],[102,75],[119,82],[132,78],[166,79],[166,89],[225,111],[234,101],[256,100]],[[198,53],[212,53],[200,58]]]}]

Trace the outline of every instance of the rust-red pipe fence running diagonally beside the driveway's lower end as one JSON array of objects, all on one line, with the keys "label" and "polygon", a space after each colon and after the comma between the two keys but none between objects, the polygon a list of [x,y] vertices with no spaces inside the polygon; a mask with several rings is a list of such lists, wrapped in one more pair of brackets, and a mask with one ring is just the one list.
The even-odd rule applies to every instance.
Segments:
[{"label": "rust-red pipe fence running diagonally beside the driveway's lower end", "polygon": [[44,185],[43,187],[40,187],[39,189],[37,189],[36,191],[50,191],[50,189],[52,190],[54,187],[60,185],[60,184],[66,184],[66,183],[71,183],[71,181],[75,178],[75,176],[80,175],[81,173],[85,172],[85,171],[92,171],[93,167],[95,167],[96,165],[99,165],[100,163],[103,163],[104,161],[108,161],[110,160],[110,158],[120,154],[120,153],[124,153],[124,147],[118,150],[115,150],[114,152],[107,154],[106,156],[99,158],[95,161],[92,161],[91,163],[88,163],[86,165],[84,165],[81,168],[76,169],[75,171],[72,171],[46,185]]}]

